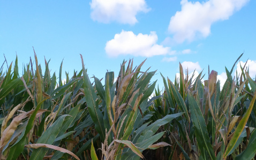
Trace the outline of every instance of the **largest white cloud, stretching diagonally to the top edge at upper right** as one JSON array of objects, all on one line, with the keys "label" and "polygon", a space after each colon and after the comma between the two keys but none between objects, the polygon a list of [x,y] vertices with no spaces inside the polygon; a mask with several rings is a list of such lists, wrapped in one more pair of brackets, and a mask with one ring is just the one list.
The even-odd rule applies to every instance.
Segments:
[{"label": "largest white cloud, stretching diagonally to the top edge at upper right", "polygon": [[178,43],[191,42],[197,36],[207,37],[214,22],[229,19],[249,1],[209,0],[200,3],[182,0],[182,10],[171,17],[168,30]]}]

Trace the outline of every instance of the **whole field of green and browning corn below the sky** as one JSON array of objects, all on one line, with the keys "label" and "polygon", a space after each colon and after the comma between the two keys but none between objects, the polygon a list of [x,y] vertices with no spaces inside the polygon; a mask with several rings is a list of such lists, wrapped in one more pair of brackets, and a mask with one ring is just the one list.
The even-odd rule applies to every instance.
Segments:
[{"label": "whole field of green and browning corn below the sky", "polygon": [[0,70],[0,157],[255,159],[256,83],[245,66],[232,77],[240,57],[222,89],[215,70],[189,77],[179,65],[174,82],[159,79],[163,90],[151,81],[156,71],[141,70],[145,61],[123,61],[103,82],[88,77],[81,55],[81,70],[63,83],[62,63],[57,78],[36,53],[22,74],[16,58]]}]

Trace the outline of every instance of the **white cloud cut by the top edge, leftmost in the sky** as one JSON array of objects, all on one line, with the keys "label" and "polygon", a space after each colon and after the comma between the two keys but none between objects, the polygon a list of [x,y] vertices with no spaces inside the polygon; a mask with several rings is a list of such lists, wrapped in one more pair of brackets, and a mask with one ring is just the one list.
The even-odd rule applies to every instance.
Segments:
[{"label": "white cloud cut by the top edge, leftmost in the sky", "polygon": [[119,23],[128,23],[134,25],[138,20],[138,12],[148,12],[145,0],[92,0],[91,18],[94,21],[108,23],[117,21]]}]

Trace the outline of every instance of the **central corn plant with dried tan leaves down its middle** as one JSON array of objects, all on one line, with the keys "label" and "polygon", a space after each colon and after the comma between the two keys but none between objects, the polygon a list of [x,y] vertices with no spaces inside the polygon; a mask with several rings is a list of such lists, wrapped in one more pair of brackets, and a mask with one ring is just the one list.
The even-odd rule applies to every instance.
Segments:
[{"label": "central corn plant with dried tan leaves down its middle", "polygon": [[[95,129],[102,140],[101,151],[104,159],[143,158],[141,151],[161,147],[161,143],[152,147],[152,144],[164,134],[155,134],[159,127],[183,114],[167,115],[150,125],[149,122],[144,124],[146,117],[150,116],[144,115],[148,107],[148,97],[156,84],[149,84],[155,71],[140,71],[144,62],[134,69],[133,61],[129,61],[126,69],[126,61],[123,62],[115,84],[114,73],[106,74],[105,87],[99,79],[94,78],[97,96],[82,60],[85,99]],[[99,104],[102,104],[102,109]],[[96,157],[95,153],[93,155]]]}]

